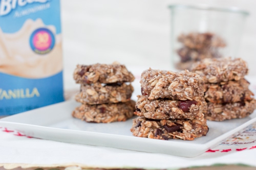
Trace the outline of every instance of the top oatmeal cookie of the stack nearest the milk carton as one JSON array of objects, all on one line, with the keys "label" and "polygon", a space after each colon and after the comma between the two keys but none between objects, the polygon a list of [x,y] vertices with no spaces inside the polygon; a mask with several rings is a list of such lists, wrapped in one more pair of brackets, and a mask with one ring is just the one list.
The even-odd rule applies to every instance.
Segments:
[{"label": "top oatmeal cookie of the stack nearest the milk carton", "polygon": [[77,65],[73,76],[76,83],[80,84],[134,81],[133,74],[119,63]]}]

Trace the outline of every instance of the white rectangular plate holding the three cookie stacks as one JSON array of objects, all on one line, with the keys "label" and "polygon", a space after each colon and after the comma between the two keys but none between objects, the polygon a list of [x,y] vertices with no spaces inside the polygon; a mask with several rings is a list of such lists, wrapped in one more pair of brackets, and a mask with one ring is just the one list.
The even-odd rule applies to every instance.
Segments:
[{"label": "white rectangular plate holding the three cookie stacks", "polygon": [[256,121],[254,111],[249,117],[242,119],[208,121],[207,135],[192,141],[158,140],[133,136],[130,132],[132,119],[110,124],[82,122],[71,115],[79,105],[70,100],[42,107],[2,118],[0,125],[41,139],[195,157]]}]

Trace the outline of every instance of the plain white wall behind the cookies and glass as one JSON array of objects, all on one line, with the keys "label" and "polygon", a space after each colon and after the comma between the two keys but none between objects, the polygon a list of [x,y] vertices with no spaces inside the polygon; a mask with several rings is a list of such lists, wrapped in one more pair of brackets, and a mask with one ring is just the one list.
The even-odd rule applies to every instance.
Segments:
[{"label": "plain white wall behind the cookies and glass", "polygon": [[[193,2],[193,4],[192,4]],[[73,86],[76,64],[112,63],[168,69],[170,4],[207,4],[247,10],[239,57],[256,76],[255,0],[61,0],[66,88]]]}]

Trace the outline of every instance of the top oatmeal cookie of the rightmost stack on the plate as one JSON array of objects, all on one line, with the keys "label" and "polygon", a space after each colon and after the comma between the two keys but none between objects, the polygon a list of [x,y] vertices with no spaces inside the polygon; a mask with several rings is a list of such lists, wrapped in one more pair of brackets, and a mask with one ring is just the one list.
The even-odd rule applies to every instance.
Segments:
[{"label": "top oatmeal cookie of the rightmost stack on the plate", "polygon": [[205,83],[238,81],[248,74],[247,63],[241,58],[204,59],[193,64],[191,70],[202,76]]}]

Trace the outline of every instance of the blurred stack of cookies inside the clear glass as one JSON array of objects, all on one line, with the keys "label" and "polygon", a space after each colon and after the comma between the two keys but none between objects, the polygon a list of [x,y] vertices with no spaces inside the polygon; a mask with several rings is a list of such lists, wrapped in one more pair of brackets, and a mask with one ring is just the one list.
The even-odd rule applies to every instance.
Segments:
[{"label": "blurred stack of cookies inside the clear glass", "polygon": [[190,69],[192,63],[204,58],[220,58],[219,48],[225,47],[223,39],[213,33],[181,34],[178,41],[182,47],[177,50],[180,62],[179,69]]}]

